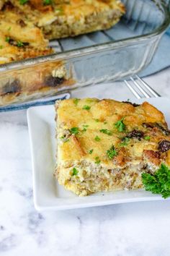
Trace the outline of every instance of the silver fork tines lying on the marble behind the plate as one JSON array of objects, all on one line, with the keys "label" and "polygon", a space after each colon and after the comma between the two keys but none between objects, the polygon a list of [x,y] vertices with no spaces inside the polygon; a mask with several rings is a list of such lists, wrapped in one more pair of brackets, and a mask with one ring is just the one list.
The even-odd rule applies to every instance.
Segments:
[{"label": "silver fork tines lying on the marble behind the plate", "polygon": [[161,95],[156,93],[156,91],[144,82],[137,74],[135,77],[130,77],[130,80],[124,80],[124,82],[136,98],[161,97]]}]

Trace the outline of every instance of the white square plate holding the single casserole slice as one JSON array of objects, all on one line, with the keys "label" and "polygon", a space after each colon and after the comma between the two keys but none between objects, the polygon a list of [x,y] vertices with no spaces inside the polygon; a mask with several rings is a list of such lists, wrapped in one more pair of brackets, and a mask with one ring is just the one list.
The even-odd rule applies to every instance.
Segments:
[{"label": "white square plate holding the single casserole slice", "polygon": [[[150,98],[148,101],[161,110],[170,126],[170,100]],[[133,100],[134,102],[134,100]],[[54,106],[37,106],[27,111],[33,168],[34,202],[37,210],[65,210],[122,202],[162,200],[143,189],[133,191],[106,192],[78,197],[58,184],[53,176],[55,168],[55,110]]]}]

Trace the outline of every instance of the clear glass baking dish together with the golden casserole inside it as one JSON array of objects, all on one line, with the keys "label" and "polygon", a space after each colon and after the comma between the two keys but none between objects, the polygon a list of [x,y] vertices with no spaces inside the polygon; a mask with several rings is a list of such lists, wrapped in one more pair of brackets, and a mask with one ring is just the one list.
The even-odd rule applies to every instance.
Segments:
[{"label": "clear glass baking dish together with the golden casserole inside it", "polygon": [[[99,82],[121,80],[140,72],[151,62],[161,36],[170,22],[169,9],[161,0],[122,0],[125,9],[120,1],[113,0],[75,0],[66,1],[64,4],[63,1],[53,1],[53,4],[49,4],[50,2],[24,0],[24,4],[20,4],[20,1],[14,0],[1,1],[1,22],[5,23],[0,25],[0,111],[6,110],[6,106],[10,109],[18,108],[17,104],[22,106],[22,103],[29,106],[30,101],[37,98]],[[62,23],[62,19],[66,17],[64,12],[67,10],[67,13],[70,13],[68,10],[71,10],[73,4],[78,7],[81,3],[84,3],[81,6],[84,8],[82,19],[75,23],[79,29],[77,26],[71,26],[74,31],[68,31],[67,25],[66,29],[63,27],[61,30],[61,26],[65,24]],[[60,8],[61,5],[64,8]],[[100,29],[114,24],[119,15],[124,12],[125,14],[120,22],[109,30],[72,37],[77,32],[81,33],[81,30],[84,33],[85,30],[89,32],[99,28],[92,25],[95,15],[91,15],[91,12],[94,5],[99,10],[98,14],[108,14],[107,20],[100,20],[100,14],[94,12],[100,20]],[[53,7],[57,7],[55,11]],[[12,19],[8,18],[10,15]],[[73,19],[79,15],[79,9],[74,11]],[[40,19],[41,22],[38,22]],[[9,20],[14,20],[14,24],[9,25]],[[32,38],[28,36],[30,31]],[[66,34],[71,36],[50,40],[49,46],[53,48],[51,49],[48,46],[49,38],[59,36],[56,33],[60,33],[60,37]],[[18,34],[24,37],[14,38],[14,35]],[[20,61],[23,58],[26,59]]]}]

